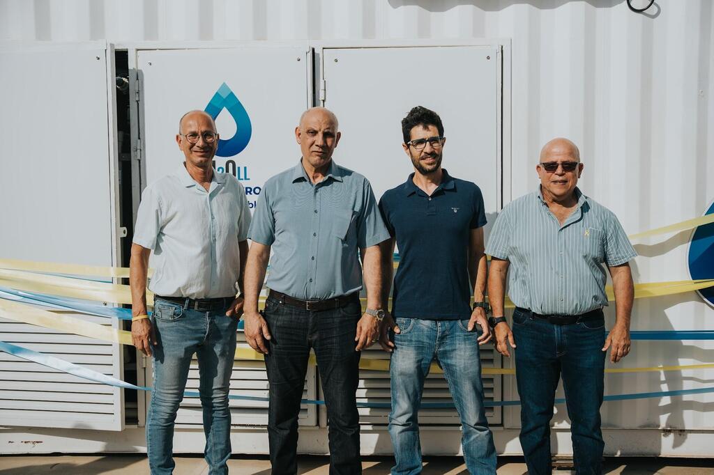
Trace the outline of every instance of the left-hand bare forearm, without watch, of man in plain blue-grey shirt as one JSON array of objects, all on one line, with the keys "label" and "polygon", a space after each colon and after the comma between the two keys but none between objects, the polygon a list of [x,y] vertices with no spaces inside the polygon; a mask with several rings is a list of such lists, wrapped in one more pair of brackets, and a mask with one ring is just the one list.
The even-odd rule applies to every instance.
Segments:
[{"label": "left-hand bare forearm, without watch, of man in plain blue-grey shirt", "polygon": [[243,293],[245,294],[243,320],[246,322],[243,334],[246,335],[246,341],[251,345],[251,348],[263,354],[268,354],[266,340],[271,337],[268,332],[268,324],[258,313],[258,294],[263,288],[269,259],[270,246],[253,241],[251,249],[248,251],[245,276],[243,277]]}]

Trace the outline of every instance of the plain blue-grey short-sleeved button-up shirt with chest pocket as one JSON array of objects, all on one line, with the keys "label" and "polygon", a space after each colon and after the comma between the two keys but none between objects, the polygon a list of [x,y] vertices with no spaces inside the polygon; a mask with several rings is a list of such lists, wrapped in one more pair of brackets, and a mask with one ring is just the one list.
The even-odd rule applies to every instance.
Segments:
[{"label": "plain blue-grey short-sleeved button-up shirt with chest pocket", "polygon": [[266,181],[248,237],[271,246],[268,288],[323,300],[361,290],[357,250],[389,233],[368,180],[333,160],[316,185],[301,162]]}]

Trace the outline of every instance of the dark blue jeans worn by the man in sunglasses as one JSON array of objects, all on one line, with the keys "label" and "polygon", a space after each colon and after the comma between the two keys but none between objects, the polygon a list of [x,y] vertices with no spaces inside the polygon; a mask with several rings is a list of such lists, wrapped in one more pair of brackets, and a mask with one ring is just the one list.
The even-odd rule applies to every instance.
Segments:
[{"label": "dark blue jeans worn by the man in sunglasses", "polygon": [[578,474],[602,473],[605,443],[600,431],[605,370],[605,321],[599,317],[553,325],[531,312],[513,312],[516,382],[521,397],[521,447],[528,473],[551,473],[550,419],[563,376]]}]

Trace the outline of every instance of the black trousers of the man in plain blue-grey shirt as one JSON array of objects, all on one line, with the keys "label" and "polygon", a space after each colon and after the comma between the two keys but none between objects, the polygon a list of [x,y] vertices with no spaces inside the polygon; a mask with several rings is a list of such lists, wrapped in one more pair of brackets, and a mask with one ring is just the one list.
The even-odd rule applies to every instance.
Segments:
[{"label": "black trousers of the man in plain blue-grey shirt", "polygon": [[298,471],[298,412],[311,348],[317,357],[327,407],[330,474],[361,474],[355,401],[360,353],[355,351],[354,341],[361,317],[359,300],[337,309],[310,312],[268,297],[263,316],[271,333],[265,360],[273,475]]}]

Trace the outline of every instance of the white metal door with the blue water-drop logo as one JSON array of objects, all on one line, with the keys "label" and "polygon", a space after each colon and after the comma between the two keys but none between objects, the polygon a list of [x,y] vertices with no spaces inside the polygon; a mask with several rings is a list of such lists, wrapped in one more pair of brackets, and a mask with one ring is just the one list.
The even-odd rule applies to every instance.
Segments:
[{"label": "white metal door with the blue water-drop logo", "polygon": [[[251,208],[263,183],[299,160],[293,131],[312,97],[312,53],[307,46],[151,50],[137,55],[146,183],[171,173],[183,162],[174,138],[179,118],[192,109],[218,114],[221,143],[216,169],[241,180]],[[243,334],[238,334],[238,347],[248,348]],[[150,367],[146,376],[151,379]],[[197,388],[194,361],[186,389]],[[316,371],[310,367],[303,397],[316,399],[316,392]],[[267,397],[263,362],[236,360],[231,394]],[[267,424],[267,402],[231,400],[230,404],[234,425]],[[198,399],[185,399],[176,423],[198,427],[201,421]],[[303,404],[300,424],[317,424],[315,406]]]}]

